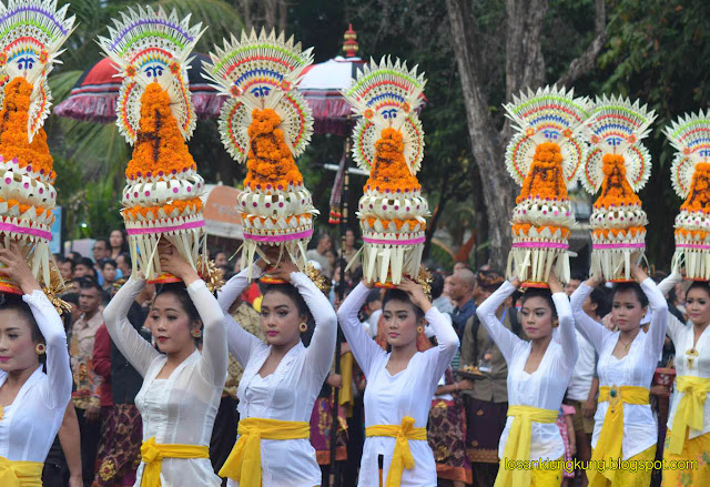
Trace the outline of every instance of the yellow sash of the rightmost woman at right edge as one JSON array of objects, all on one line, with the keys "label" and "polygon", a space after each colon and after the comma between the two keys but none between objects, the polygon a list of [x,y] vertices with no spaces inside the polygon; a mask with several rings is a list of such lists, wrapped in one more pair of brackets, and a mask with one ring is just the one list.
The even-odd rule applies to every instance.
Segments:
[{"label": "yellow sash of the rightmost woman at right edge", "polygon": [[686,443],[686,429],[702,430],[702,410],[708,393],[710,393],[710,378],[678,376],[678,392],[683,397],[678,403],[673,417],[673,429],[670,432],[670,446],[668,450],[673,455],[680,455]]}]

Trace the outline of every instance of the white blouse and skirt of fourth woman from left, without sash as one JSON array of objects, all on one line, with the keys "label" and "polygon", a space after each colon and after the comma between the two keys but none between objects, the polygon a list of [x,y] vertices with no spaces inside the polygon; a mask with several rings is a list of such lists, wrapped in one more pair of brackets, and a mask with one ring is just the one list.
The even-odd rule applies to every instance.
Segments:
[{"label": "white blouse and skirt of fourth woman from left, without sash", "polygon": [[[426,428],[432,398],[458,348],[458,336],[449,318],[437,308],[426,313],[426,321],[436,333],[438,346],[414,354],[407,368],[390,375],[389,354],[373,341],[357,319],[369,290],[358,284],[338,310],[338,318],[357,364],[367,377],[365,388],[365,426],[398,426],[405,416],[414,418],[415,428]],[[402,474],[402,487],[436,487],[436,464],[426,440],[409,440],[415,467]],[[379,486],[378,456],[384,457],[383,478],[387,478],[395,438],[371,436],[365,439],[359,468],[359,487]]]}]

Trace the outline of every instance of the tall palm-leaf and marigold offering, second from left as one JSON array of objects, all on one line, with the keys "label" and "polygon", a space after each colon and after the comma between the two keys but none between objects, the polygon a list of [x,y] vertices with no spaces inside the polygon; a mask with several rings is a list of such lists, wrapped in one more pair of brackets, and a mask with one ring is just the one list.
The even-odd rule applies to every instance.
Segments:
[{"label": "tall palm-leaf and marigold offering, second from left", "polygon": [[[158,244],[173,244],[201,274],[209,274],[202,201],[204,180],[185,143],[195,128],[187,82],[189,55],[201,24],[175,11],[138,6],[113,20],[99,43],[118,64],[123,82],[118,120],[134,144],[125,170],[123,210],[133,258],[151,282],[176,282],[160,268]],[[200,263],[200,265],[199,265]]]}]

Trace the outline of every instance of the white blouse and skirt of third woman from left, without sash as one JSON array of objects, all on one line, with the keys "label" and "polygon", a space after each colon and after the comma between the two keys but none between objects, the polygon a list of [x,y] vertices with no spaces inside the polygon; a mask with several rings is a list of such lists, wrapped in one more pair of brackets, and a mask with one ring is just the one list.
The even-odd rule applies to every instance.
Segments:
[{"label": "white blouse and skirt of third woman from left, without sash", "polygon": [[[305,274],[291,274],[293,284],[303,296],[313,318],[315,331],[308,347],[301,342],[281,359],[276,371],[261,377],[258,371],[271,354],[271,345],[242,328],[227,313],[232,303],[247,286],[248,268],[227,282],[217,294],[217,301],[227,323],[230,352],[244,367],[236,389],[240,418],[310,422],[313,405],[328,375],[333,355],[337,319],[325,295]],[[253,265],[257,278],[262,270]],[[239,437],[237,437],[239,439]],[[262,485],[264,487],[313,487],[321,485],[321,468],[315,449],[307,438],[262,439]],[[239,486],[230,479],[227,485]]]}]

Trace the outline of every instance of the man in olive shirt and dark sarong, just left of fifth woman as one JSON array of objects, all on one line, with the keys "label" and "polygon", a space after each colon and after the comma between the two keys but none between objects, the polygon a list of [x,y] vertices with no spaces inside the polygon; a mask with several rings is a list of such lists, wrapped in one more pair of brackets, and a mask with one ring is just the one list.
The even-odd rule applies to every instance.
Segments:
[{"label": "man in olive shirt and dark sarong, just left of fifth woman", "polygon": [[[469,271],[470,272],[470,271]],[[503,284],[504,277],[495,272],[480,272],[476,277],[475,306],[480,305]],[[503,325],[519,334],[519,324],[513,298],[509,297],[496,312]],[[474,485],[493,487],[498,474],[498,440],[506,425],[508,412],[508,366],[474,314],[466,323],[462,341],[462,365],[480,367],[486,378],[476,381],[476,387],[465,390],[467,406],[466,454],[471,463]]]}]

